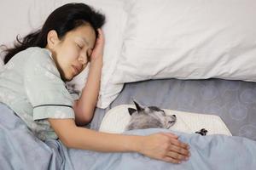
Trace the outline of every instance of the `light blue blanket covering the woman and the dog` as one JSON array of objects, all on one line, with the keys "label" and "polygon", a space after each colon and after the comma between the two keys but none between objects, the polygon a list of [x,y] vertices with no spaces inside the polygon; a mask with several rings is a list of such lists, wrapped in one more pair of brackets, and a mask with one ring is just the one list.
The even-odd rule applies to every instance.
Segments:
[{"label": "light blue blanket covering the woman and the dog", "polygon": [[[146,135],[166,129],[134,130],[126,133]],[[24,122],[0,104],[0,169],[256,169],[256,142],[224,135],[201,136],[176,133],[190,145],[189,161],[172,164],[137,153],[99,153],[67,149],[59,140],[42,142]]]}]

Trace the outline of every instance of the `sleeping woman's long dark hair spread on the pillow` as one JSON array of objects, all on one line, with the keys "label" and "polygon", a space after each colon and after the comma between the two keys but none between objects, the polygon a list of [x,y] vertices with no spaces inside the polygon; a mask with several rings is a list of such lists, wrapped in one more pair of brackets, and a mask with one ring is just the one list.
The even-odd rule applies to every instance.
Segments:
[{"label": "sleeping woman's long dark hair spread on the pillow", "polygon": [[90,6],[84,3],[67,3],[59,8],[56,8],[44,22],[42,29],[28,34],[26,37],[19,39],[14,48],[6,48],[4,64],[11,59],[15,54],[30,47],[45,48],[47,45],[47,35],[51,30],[55,30],[59,39],[63,38],[68,31],[86,24],[90,24],[96,32],[105,23],[105,16],[100,14]]}]

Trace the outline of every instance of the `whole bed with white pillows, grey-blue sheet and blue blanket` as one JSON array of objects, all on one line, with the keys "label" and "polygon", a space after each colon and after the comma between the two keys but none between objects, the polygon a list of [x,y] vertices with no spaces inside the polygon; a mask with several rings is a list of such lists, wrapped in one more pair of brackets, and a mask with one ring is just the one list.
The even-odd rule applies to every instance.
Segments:
[{"label": "whole bed with white pillows, grey-blue sheet and blue blanket", "polygon": [[[38,29],[50,11],[70,2],[2,2],[0,43],[10,45],[17,34],[22,36]],[[0,116],[0,169],[255,169],[253,0],[75,2],[90,4],[107,16],[103,27],[106,48],[101,91],[95,116],[87,127],[99,130],[108,111],[118,105],[131,105],[136,99],[162,109],[219,116],[233,137],[202,138],[174,132],[194,150],[190,161],[178,166],[135,153],[102,154],[67,149],[59,140],[42,142],[10,112]],[[67,87],[81,92],[87,72],[85,69],[67,82]],[[125,133],[144,135],[159,131],[165,130]]]}]

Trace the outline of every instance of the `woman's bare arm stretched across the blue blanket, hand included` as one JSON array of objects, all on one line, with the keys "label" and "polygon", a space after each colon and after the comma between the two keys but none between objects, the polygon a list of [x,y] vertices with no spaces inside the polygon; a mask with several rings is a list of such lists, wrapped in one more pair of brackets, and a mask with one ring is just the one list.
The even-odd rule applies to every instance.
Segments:
[{"label": "woman's bare arm stretched across the blue blanket, hand included", "polygon": [[77,127],[73,119],[48,119],[50,126],[69,148],[101,152],[139,152],[145,156],[178,163],[189,157],[189,146],[172,133],[148,136],[100,133]]}]

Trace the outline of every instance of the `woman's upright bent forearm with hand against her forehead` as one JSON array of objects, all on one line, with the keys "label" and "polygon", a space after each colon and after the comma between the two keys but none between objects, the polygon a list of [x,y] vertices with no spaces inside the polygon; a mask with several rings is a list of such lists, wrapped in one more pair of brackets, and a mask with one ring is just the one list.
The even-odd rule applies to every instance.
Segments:
[{"label": "woman's upright bent forearm with hand against her forehead", "polygon": [[79,100],[73,105],[75,121],[78,125],[90,122],[96,108],[101,84],[104,41],[103,32],[98,29],[95,48],[90,56],[89,75]]}]

